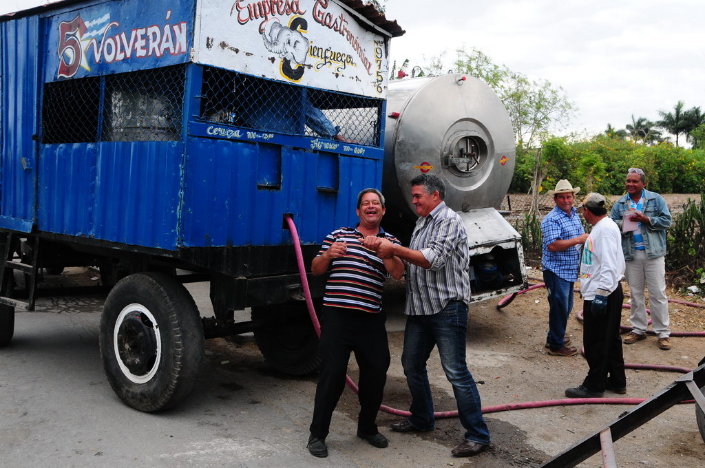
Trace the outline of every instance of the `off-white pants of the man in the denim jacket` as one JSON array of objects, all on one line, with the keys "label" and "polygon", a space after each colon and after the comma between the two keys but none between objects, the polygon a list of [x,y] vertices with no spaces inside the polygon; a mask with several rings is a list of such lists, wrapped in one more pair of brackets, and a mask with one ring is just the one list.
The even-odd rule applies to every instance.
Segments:
[{"label": "off-white pants of the man in the denim jacket", "polygon": [[632,293],[632,316],[630,321],[634,333],[646,333],[646,307],[644,306],[644,286],[649,288],[649,309],[651,328],[658,338],[670,335],[668,319],[668,299],[666,298],[666,257],[649,259],[644,250],[636,250],[634,259],[627,261],[625,271],[627,283]]}]

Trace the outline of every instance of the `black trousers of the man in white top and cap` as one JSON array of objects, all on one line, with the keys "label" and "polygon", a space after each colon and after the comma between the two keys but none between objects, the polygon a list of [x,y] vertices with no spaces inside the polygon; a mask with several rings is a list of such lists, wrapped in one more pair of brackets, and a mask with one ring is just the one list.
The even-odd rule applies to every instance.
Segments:
[{"label": "black trousers of the man in white top and cap", "polygon": [[583,302],[583,343],[590,370],[582,384],[594,392],[603,392],[606,386],[627,386],[622,338],[619,335],[623,301],[624,294],[619,283],[607,297],[604,314],[592,312],[592,301]]}]

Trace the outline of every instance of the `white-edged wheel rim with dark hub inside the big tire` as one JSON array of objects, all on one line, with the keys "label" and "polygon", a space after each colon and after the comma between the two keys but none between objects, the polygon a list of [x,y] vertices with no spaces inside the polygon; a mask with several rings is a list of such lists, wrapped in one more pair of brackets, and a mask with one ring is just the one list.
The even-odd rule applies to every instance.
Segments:
[{"label": "white-edged wheel rim with dark hub inside the big tire", "polygon": [[125,377],[147,383],[159,369],[161,333],[152,312],[142,304],[122,309],[113,329],[115,358]]}]

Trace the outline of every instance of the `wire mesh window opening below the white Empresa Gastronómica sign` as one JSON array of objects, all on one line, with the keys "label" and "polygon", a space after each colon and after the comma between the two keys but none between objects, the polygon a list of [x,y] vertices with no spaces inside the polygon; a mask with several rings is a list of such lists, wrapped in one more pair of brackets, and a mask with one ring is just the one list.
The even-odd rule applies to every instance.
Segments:
[{"label": "wire mesh window opening below the white Empresa Gastron\u00f3mica sign", "polygon": [[383,102],[207,67],[200,116],[265,132],[379,147]]}]

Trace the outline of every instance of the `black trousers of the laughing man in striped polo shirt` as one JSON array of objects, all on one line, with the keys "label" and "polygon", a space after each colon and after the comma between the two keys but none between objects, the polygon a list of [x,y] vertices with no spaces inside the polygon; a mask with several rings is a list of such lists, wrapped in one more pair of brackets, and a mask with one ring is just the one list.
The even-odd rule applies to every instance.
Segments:
[{"label": "black trousers of the laughing man in striped polo shirt", "polygon": [[377,433],[374,421],[390,362],[385,321],[384,312],[370,314],[340,307],[324,307],[321,311],[321,376],[310,426],[312,436],[328,436],[333,410],[345,389],[350,352],[355,353],[360,367],[357,431],[369,435]]}]

